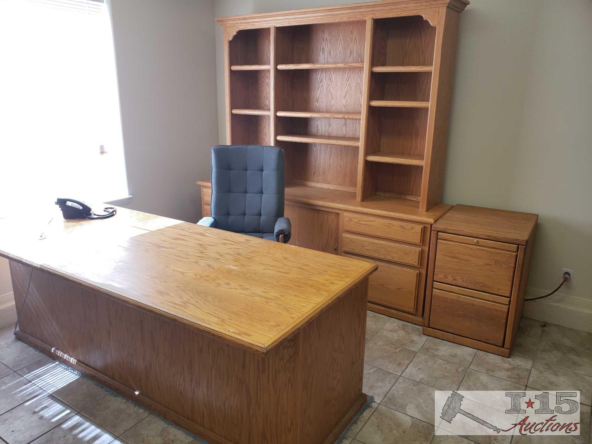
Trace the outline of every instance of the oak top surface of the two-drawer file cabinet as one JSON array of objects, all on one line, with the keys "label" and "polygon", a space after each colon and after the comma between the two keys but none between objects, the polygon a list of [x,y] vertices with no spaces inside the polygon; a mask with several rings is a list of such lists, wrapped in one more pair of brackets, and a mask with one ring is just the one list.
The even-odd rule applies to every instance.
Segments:
[{"label": "oak top surface of the two-drawer file cabinet", "polygon": [[481,239],[525,245],[536,227],[538,215],[494,208],[456,205],[452,214],[435,231],[480,237]]}]

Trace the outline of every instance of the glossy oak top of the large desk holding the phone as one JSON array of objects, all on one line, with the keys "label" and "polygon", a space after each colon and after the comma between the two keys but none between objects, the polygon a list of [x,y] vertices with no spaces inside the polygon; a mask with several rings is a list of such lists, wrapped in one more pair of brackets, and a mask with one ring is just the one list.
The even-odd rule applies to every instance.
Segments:
[{"label": "glossy oak top of the large desk holding the phone", "polygon": [[126,208],[104,220],[63,220],[56,210],[0,219],[0,256],[255,352],[377,268]]}]

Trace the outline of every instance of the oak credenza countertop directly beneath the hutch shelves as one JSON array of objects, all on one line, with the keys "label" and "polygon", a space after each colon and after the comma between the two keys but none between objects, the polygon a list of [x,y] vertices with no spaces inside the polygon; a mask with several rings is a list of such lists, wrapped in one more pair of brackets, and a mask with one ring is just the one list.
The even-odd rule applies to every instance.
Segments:
[{"label": "oak credenza countertop directly beneath the hutch shelves", "polygon": [[[210,189],[211,181],[197,181],[197,184]],[[340,211],[353,211],[392,217],[404,221],[433,224],[446,214],[452,205],[439,204],[427,212],[419,211],[419,202],[402,199],[390,199],[374,196],[366,201],[356,201],[355,193],[339,189],[321,188],[318,186],[288,184],[285,189],[286,203],[311,205]]]}]

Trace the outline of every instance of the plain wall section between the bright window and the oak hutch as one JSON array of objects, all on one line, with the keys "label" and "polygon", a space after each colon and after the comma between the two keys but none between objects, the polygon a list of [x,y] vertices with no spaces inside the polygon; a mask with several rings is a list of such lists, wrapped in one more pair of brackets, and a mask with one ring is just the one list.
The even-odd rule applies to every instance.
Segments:
[{"label": "plain wall section between the bright window and the oak hutch", "polygon": [[214,0],[111,0],[134,210],[197,222],[217,144]]}]

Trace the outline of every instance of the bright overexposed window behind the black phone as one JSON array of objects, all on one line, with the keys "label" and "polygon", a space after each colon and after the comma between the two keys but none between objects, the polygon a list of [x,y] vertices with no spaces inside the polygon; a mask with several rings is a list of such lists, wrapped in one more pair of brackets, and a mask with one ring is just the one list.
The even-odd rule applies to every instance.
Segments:
[{"label": "bright overexposed window behind the black phone", "polygon": [[105,3],[0,0],[0,42],[2,207],[127,197]]}]

